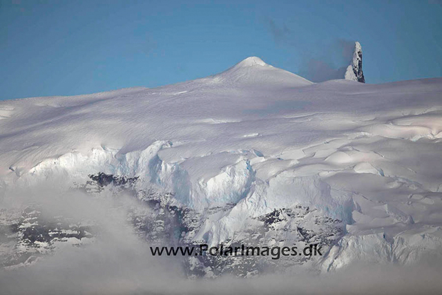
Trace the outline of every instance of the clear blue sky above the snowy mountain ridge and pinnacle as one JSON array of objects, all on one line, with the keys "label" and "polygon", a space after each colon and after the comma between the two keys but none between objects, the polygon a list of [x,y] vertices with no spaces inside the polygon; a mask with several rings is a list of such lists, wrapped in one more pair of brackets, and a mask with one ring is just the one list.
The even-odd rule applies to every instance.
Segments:
[{"label": "clear blue sky above the snowy mountain ridge and pinnacle", "polygon": [[155,87],[256,55],[336,76],[352,41],[367,83],[442,76],[442,1],[0,0],[0,99]]}]

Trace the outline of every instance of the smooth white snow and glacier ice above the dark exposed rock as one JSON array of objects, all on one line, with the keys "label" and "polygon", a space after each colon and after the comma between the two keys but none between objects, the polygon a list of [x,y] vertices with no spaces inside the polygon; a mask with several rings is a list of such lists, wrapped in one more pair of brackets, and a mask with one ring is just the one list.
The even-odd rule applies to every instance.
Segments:
[{"label": "smooth white snow and glacier ice above the dark exposed rock", "polygon": [[439,78],[313,84],[249,57],[170,86],[2,101],[0,115],[3,196],[101,172],[138,177],[201,216],[231,204],[189,240],[225,242],[300,206],[343,222],[316,262],[324,271],[442,253]]}]

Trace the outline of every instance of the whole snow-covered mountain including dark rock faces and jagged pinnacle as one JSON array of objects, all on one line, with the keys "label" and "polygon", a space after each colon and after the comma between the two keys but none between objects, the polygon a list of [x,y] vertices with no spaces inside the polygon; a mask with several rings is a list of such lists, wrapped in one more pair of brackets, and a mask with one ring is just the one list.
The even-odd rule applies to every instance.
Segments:
[{"label": "whole snow-covered mountain including dark rock faces and jagged pinnacle", "polygon": [[[352,73],[363,82],[361,63],[356,43]],[[319,243],[325,252],[191,257],[189,276],[439,257],[441,93],[442,79],[314,84],[249,57],[170,86],[0,102],[0,263],[99,239],[97,220],[65,210],[83,197],[60,201],[73,192],[116,198],[109,212],[153,245]]]}]

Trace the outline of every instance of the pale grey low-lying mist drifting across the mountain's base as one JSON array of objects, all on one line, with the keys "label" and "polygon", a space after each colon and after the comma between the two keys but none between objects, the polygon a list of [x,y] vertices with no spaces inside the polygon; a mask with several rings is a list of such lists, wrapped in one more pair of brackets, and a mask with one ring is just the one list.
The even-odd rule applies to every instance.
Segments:
[{"label": "pale grey low-lying mist drifting across the mountain's base", "polygon": [[153,257],[127,221],[131,196],[91,197],[39,188],[6,193],[1,209],[41,204],[48,216],[90,220],[94,242],[62,247],[29,267],[0,271],[0,294],[440,294],[442,268],[421,265],[352,265],[334,273],[296,269],[256,278],[191,280],[180,258]]}]

